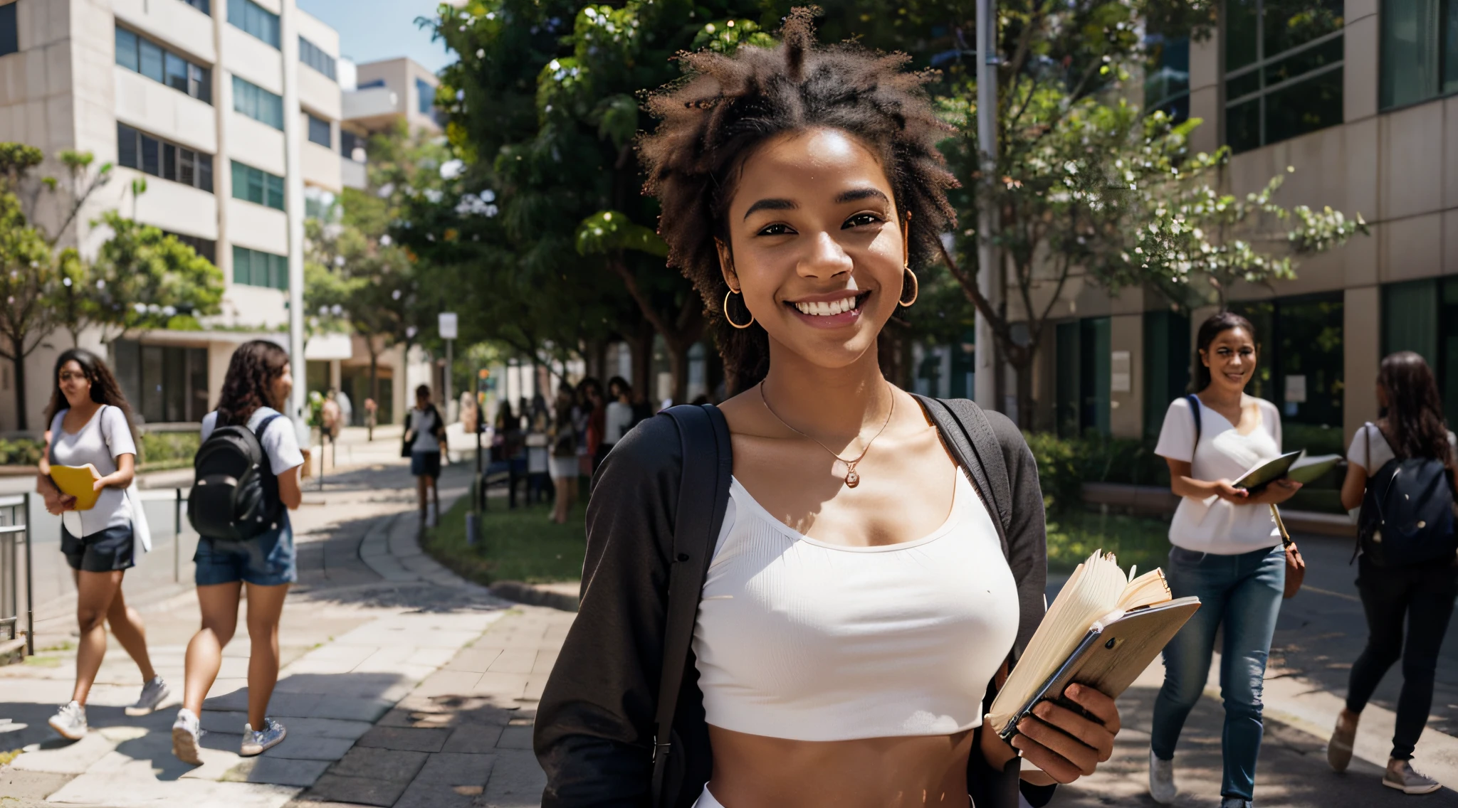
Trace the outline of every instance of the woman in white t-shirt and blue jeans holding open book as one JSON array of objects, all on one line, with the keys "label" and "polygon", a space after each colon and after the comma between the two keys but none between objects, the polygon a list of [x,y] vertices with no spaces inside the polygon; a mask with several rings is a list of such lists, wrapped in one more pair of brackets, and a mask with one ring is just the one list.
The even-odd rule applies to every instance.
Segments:
[{"label": "woman in white t-shirt and blue jeans holding open book", "polygon": [[1216,627],[1225,700],[1222,808],[1250,808],[1261,748],[1261,681],[1286,584],[1286,555],[1270,505],[1301,483],[1276,480],[1252,494],[1231,480],[1282,454],[1280,413],[1245,395],[1260,358],[1255,329],[1232,312],[1200,326],[1196,389],[1169,405],[1155,453],[1169,463],[1181,496],[1169,526],[1174,597],[1197,595],[1200,611],[1165,646],[1165,684],[1150,729],[1149,793],[1174,802],[1175,744],[1210,673]]}]

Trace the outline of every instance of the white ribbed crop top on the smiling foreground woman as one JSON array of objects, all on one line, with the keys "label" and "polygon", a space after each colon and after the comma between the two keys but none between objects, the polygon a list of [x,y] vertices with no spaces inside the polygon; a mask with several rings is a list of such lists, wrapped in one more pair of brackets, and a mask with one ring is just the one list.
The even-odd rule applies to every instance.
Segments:
[{"label": "white ribbed crop top on the smiling foreground woman", "polygon": [[997,528],[962,473],[942,527],[876,547],[796,533],[733,480],[694,626],[706,718],[795,741],[971,729],[1018,620]]}]

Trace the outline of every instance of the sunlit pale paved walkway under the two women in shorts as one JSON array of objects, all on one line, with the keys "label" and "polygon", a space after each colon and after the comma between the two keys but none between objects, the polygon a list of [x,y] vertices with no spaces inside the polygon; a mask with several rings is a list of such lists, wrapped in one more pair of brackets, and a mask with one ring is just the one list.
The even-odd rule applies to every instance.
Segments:
[{"label": "sunlit pale paved walkway under the two women in shorts", "polygon": [[[464,464],[449,467],[442,505],[467,480]],[[300,581],[284,609],[284,667],[270,706],[289,738],[261,757],[236,754],[246,705],[242,622],[204,703],[204,764],[190,767],[172,757],[169,729],[184,646],[198,625],[194,595],[184,591],[143,607],[153,664],[175,692],[165,709],[141,719],[122,715],[140,677],[112,639],[87,709],[93,731],[77,742],[45,726],[74,676],[66,620],[47,620],[36,639],[48,651],[0,668],[0,750],[25,748],[0,767],[4,805],[281,807],[356,744],[376,748],[375,724],[507,606],[421,555],[413,498],[407,469],[395,464],[340,475],[322,505],[296,512]]]}]

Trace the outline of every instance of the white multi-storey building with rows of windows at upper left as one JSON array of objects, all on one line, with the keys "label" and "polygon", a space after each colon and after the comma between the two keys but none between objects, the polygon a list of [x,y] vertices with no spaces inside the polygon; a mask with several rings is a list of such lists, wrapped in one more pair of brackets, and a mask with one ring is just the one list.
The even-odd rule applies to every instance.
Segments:
[{"label": "white multi-storey building with rows of windows at upper left", "polygon": [[[295,0],[0,0],[0,141],[41,147],[45,173],[57,173],[50,160],[64,148],[117,166],[61,245],[95,252],[106,233],[90,221],[121,208],[223,272],[222,313],[204,330],[147,330],[109,345],[82,336],[111,355],[146,422],[200,421],[238,344],[289,345],[303,218],[357,173],[341,154],[338,54],[338,33]],[[136,199],[134,179],[147,181]],[[31,431],[42,428],[51,365],[67,346],[55,332],[26,364]],[[0,431],[17,424],[4,364]],[[395,376],[402,384],[404,373]]]}]

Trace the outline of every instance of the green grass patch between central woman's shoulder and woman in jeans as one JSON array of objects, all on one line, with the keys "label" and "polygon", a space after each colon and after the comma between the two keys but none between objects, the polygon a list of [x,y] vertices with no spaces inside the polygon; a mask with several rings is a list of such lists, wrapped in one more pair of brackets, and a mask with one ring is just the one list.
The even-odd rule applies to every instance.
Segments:
[{"label": "green grass patch between central woman's shoulder and woman in jeans", "polygon": [[1118,556],[1118,565],[1150,571],[1169,559],[1169,523],[1153,517],[1130,517],[1069,510],[1048,514],[1048,569],[1072,572],[1102,549]]}]

